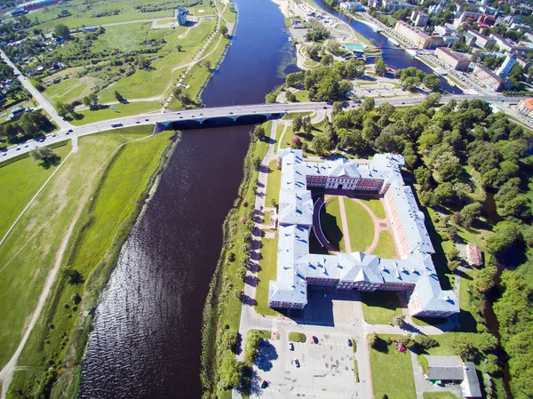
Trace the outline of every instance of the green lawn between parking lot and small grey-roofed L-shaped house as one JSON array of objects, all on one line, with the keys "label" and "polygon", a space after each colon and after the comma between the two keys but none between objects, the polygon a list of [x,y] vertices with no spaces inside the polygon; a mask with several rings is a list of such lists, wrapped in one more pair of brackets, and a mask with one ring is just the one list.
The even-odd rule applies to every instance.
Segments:
[{"label": "green lawn between parking lot and small grey-roofed L-shaped house", "polygon": [[[386,339],[386,335],[379,335]],[[394,335],[389,335],[394,339]],[[387,395],[389,399],[413,399],[417,397],[415,379],[409,351],[398,352],[391,344],[385,352],[370,348],[370,372],[372,387],[377,398]]]}]

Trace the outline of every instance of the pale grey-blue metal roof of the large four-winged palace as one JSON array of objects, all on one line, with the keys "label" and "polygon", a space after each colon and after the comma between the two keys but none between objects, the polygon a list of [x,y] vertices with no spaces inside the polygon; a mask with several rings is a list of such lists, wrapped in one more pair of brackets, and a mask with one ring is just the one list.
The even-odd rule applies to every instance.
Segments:
[{"label": "pale grey-blue metal roof of the large four-winged palace", "polygon": [[[431,253],[434,247],[409,187],[403,185],[402,156],[377,154],[370,164],[344,159],[306,162],[301,150],[278,151],[282,162],[276,280],[268,290],[270,301],[306,304],[306,278],[327,278],[338,283],[362,283],[378,288],[383,283],[415,286],[421,310],[458,312],[453,291],[442,291]],[[309,253],[309,233],[314,203],[306,188],[306,176],[371,178],[384,180],[393,190],[409,251],[403,259],[381,259],[362,252],[319,255]]]}]

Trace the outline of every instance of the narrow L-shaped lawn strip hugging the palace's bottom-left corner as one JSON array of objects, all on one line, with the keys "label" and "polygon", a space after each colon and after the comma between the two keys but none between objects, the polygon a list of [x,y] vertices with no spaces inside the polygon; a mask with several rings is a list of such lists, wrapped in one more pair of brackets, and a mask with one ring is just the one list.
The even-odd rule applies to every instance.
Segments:
[{"label": "narrow L-shaped lawn strip hugging the palace's bottom-left corner", "polygon": [[277,262],[276,238],[263,238],[261,248],[261,259],[259,260],[259,283],[256,291],[256,311],[261,315],[280,315],[273,308],[268,307],[268,282],[275,280]]}]

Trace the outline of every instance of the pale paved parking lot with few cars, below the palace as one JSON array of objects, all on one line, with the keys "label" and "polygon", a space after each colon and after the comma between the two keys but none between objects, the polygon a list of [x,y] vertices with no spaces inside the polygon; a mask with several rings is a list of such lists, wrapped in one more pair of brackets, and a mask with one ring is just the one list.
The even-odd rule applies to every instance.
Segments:
[{"label": "pale paved parking lot with few cars, below the palace", "polygon": [[[320,327],[319,327],[320,329]],[[306,327],[312,331],[312,327]],[[267,380],[265,388],[258,389],[256,397],[364,397],[359,393],[361,383],[355,380],[354,350],[348,345],[349,335],[314,333],[318,343],[314,343],[312,335],[307,334],[305,343],[294,342],[294,350],[290,350],[286,334],[279,340],[269,340],[276,350],[276,358],[272,367],[257,371],[259,386]],[[295,363],[298,359],[299,367]]]}]

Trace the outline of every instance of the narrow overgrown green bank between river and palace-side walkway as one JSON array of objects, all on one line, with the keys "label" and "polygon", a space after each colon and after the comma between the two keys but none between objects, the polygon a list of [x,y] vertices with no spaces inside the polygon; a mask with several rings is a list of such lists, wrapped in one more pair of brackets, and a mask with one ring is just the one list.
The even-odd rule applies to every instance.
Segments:
[{"label": "narrow overgrown green bank between river and palace-side walkway", "polygon": [[[224,221],[220,258],[211,280],[203,309],[202,371],[203,397],[230,398],[231,389],[245,389],[249,384],[251,364],[235,362],[235,347],[224,345],[226,331],[238,331],[243,301],[244,276],[251,267],[251,241],[259,168],[267,154],[272,122],[257,126],[251,133],[251,144],[243,163],[243,181],[234,208]],[[242,337],[244,339],[244,337]],[[242,379],[235,379],[242,375]]]}]

